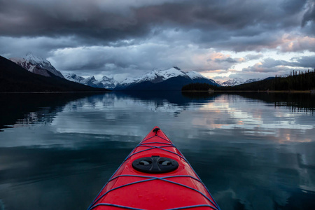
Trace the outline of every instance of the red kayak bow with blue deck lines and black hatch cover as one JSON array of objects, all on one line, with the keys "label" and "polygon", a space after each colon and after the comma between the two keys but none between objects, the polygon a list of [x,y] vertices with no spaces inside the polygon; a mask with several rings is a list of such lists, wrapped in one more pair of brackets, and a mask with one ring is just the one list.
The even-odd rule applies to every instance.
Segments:
[{"label": "red kayak bow with blue deck lines and black hatch cover", "polygon": [[90,209],[220,207],[183,154],[155,127],[111,176]]}]

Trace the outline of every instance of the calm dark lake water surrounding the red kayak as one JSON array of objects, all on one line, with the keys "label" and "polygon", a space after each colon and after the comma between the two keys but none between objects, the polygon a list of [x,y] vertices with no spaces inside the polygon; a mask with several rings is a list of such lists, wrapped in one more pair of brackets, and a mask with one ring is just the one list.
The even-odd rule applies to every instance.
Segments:
[{"label": "calm dark lake water surrounding the red kayak", "polygon": [[87,209],[158,125],[221,209],[315,209],[311,94],[0,94],[0,209]]}]

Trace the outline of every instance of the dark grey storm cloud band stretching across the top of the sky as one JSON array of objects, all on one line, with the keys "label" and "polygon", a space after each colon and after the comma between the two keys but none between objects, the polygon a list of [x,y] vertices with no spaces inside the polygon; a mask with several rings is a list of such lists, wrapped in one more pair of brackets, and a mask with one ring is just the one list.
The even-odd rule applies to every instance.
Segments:
[{"label": "dark grey storm cloud band stretching across the top of the sky", "polygon": [[[1,35],[78,36],[86,43],[106,43],[155,36],[178,27],[183,31],[202,31],[200,37],[195,37],[196,43],[219,41],[224,45],[224,40],[233,43],[231,37],[260,36],[267,30],[300,25],[302,20],[297,15],[306,0],[157,1],[137,6],[130,3],[111,6],[106,1],[70,2],[1,0]],[[307,10],[305,20],[309,20],[309,13]],[[261,38],[255,43],[269,41],[265,43],[265,38]]]}]

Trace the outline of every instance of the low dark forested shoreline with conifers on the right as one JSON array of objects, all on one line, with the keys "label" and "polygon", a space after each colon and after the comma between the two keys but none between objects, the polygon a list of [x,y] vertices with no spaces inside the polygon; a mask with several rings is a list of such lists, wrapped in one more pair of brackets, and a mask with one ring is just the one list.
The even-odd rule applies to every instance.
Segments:
[{"label": "low dark forested shoreline with conifers on the right", "polygon": [[265,78],[253,83],[236,86],[217,87],[207,83],[192,83],[185,85],[182,91],[257,91],[257,90],[315,90],[315,69],[313,71],[292,71],[288,76],[276,76]]}]

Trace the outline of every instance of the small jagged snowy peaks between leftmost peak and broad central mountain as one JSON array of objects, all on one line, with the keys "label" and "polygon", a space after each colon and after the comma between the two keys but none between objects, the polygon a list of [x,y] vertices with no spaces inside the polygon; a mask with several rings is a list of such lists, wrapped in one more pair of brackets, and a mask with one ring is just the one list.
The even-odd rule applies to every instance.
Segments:
[{"label": "small jagged snowy peaks between leftmost peak and broad central mountain", "polygon": [[90,76],[88,78],[84,78],[82,76],[78,76],[75,73],[69,73],[64,76],[67,80],[71,80],[76,83],[81,83],[83,85],[88,85],[91,87],[102,87],[106,89],[113,89],[116,87],[118,82],[113,78],[108,78],[107,76],[103,76],[102,80],[96,80],[94,76]]}]

